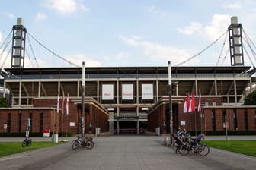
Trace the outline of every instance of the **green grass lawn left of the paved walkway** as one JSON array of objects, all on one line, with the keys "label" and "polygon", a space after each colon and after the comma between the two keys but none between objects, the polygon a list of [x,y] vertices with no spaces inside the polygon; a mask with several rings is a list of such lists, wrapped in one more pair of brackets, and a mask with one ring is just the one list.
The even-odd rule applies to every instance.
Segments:
[{"label": "green grass lawn left of the paved walkway", "polygon": [[58,144],[53,142],[32,142],[31,146],[22,147],[21,142],[0,142],[0,157]]}]

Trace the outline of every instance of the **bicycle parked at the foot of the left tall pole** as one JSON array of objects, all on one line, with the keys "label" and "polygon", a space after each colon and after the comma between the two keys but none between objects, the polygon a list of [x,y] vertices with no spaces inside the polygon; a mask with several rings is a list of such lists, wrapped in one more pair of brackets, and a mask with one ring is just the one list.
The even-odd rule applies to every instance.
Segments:
[{"label": "bicycle parked at the foot of the left tall pole", "polygon": [[92,141],[92,137],[77,137],[77,139],[72,141],[72,149],[76,150],[78,147],[86,147],[87,149],[91,149],[94,147],[94,141]]}]

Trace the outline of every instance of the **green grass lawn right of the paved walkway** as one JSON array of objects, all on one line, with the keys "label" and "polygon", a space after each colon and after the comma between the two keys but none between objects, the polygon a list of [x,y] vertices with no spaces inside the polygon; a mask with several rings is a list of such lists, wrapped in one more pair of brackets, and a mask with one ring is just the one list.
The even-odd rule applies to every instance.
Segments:
[{"label": "green grass lawn right of the paved walkway", "polygon": [[256,156],[256,140],[206,140],[203,143],[221,150]]}]

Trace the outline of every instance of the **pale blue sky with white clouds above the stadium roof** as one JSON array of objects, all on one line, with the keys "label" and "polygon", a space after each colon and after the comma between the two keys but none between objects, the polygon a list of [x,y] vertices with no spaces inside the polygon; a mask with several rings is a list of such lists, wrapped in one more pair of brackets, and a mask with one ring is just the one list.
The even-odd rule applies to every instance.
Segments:
[{"label": "pale blue sky with white clouds above the stadium roof", "polygon": [[[171,66],[231,65],[226,31],[232,16],[256,41],[254,0],[1,2],[1,68],[11,67],[11,43],[4,42],[17,18],[23,18],[27,29],[27,68],[82,67],[82,61],[85,67],[167,66],[168,61]],[[253,53],[247,51],[245,65],[254,65]]]}]

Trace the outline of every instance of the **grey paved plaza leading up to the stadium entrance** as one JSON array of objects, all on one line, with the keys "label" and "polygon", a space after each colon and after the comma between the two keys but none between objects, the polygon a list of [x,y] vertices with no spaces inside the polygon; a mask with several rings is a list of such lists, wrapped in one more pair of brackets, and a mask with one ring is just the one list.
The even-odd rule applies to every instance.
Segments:
[{"label": "grey paved plaza leading up to the stadium entrance", "polygon": [[[18,153],[0,158],[0,167],[7,169],[70,170],[70,169],[255,169],[256,158],[210,148],[208,156],[181,156],[170,146],[163,145],[164,137],[108,136],[94,137],[91,150],[72,150],[71,141],[57,146]],[[218,139],[218,137],[212,137]],[[226,139],[226,137],[224,137]],[[248,139],[255,139],[254,136]],[[8,138],[0,138],[0,141]],[[9,139],[10,140],[10,139]],[[11,140],[22,140],[12,138]],[[50,140],[50,138],[34,138]],[[59,138],[59,140],[62,140]],[[33,144],[33,143],[32,143]]]}]

